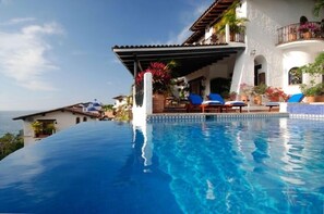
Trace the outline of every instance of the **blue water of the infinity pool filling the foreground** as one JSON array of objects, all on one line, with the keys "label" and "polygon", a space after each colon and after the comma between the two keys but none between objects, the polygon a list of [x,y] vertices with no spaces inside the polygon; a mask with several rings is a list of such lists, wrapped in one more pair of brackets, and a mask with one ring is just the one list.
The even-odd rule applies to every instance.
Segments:
[{"label": "blue water of the infinity pool filling the foreground", "polygon": [[0,162],[0,213],[323,213],[323,127],[83,123]]}]

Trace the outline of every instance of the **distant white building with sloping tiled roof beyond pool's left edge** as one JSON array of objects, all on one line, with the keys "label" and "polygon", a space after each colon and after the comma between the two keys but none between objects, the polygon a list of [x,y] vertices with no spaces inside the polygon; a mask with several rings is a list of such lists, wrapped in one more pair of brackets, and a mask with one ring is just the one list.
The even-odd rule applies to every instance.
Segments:
[{"label": "distant white building with sloping tiled roof beyond pool's left edge", "polygon": [[24,146],[28,146],[75,124],[98,121],[100,116],[100,108],[95,102],[88,102],[23,115],[13,119],[23,119]]}]

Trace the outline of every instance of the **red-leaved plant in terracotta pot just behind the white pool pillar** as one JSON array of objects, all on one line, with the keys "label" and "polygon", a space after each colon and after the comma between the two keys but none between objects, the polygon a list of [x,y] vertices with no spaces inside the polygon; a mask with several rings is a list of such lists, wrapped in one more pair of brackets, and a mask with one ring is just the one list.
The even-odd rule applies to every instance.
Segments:
[{"label": "red-leaved plant in terracotta pot just behind the white pool pillar", "polygon": [[153,112],[160,113],[165,109],[165,98],[170,93],[172,86],[171,67],[176,66],[173,61],[165,64],[163,62],[153,62],[149,66],[137,74],[136,85],[143,84],[144,74],[152,73],[153,80]]}]

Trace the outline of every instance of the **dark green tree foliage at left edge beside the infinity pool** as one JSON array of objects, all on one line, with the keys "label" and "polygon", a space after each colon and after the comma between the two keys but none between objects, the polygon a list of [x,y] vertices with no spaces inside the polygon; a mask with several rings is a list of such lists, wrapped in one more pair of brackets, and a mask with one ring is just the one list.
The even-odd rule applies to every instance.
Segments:
[{"label": "dark green tree foliage at left edge beside the infinity pool", "polygon": [[24,140],[19,135],[5,134],[0,138],[0,160],[24,147]]}]

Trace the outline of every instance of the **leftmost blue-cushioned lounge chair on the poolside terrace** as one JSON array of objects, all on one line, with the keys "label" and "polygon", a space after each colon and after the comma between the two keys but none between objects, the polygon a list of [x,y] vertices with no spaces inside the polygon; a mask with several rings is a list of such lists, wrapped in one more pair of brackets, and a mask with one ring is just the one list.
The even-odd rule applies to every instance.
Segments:
[{"label": "leftmost blue-cushioned lounge chair on the poolside terrace", "polygon": [[219,101],[211,101],[211,100],[204,101],[201,96],[195,93],[191,93],[188,97],[188,100],[189,100],[189,103],[187,105],[187,112],[191,112],[195,109],[199,109],[199,111],[203,113],[211,109],[216,109],[218,110],[218,112],[221,111],[223,104]]}]

